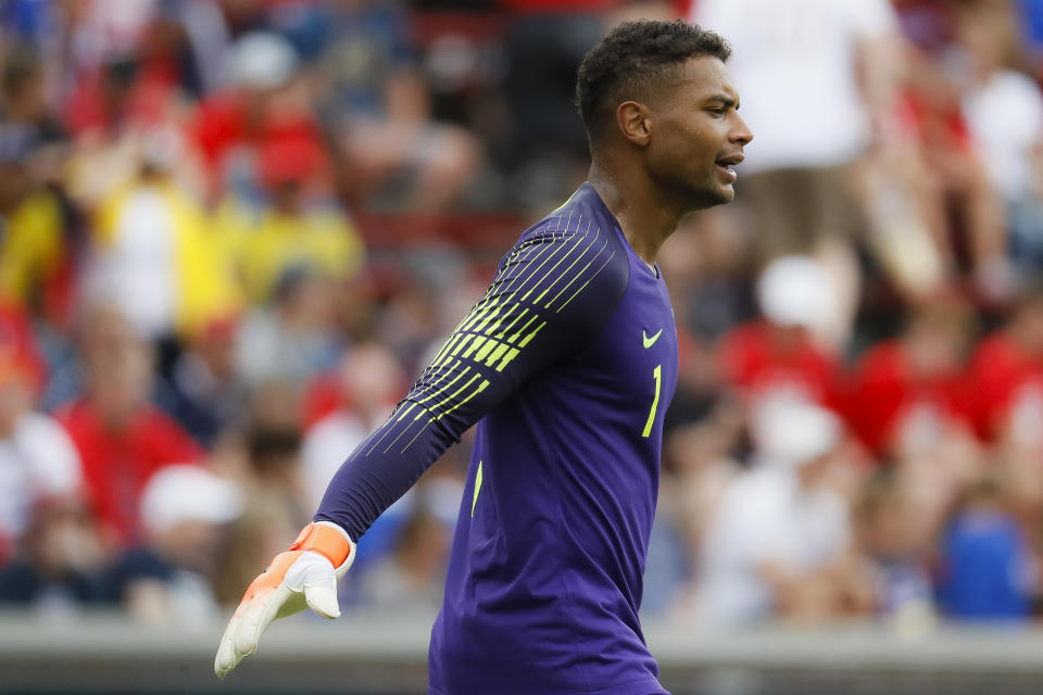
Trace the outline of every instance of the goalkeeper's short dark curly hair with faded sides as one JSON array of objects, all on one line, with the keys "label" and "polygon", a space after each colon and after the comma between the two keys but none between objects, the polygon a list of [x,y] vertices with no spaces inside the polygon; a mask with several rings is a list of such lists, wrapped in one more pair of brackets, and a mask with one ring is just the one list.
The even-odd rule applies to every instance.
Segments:
[{"label": "goalkeeper's short dark curly hair with faded sides", "polygon": [[676,85],[686,61],[731,55],[724,38],[682,20],[620,24],[590,49],[576,75],[576,106],[593,142],[613,105]]}]

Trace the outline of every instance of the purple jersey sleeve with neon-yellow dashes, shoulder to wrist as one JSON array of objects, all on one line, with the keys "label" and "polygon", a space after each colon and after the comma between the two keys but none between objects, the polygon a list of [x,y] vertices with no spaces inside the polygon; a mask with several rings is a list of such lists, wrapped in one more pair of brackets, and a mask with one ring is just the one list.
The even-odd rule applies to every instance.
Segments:
[{"label": "purple jersey sleeve with neon-yellow dashes, shoulder to wrist", "polygon": [[357,541],[464,431],[598,334],[626,291],[629,263],[613,229],[582,217],[527,232],[504,256],[409,394],[335,473],[316,520]]}]

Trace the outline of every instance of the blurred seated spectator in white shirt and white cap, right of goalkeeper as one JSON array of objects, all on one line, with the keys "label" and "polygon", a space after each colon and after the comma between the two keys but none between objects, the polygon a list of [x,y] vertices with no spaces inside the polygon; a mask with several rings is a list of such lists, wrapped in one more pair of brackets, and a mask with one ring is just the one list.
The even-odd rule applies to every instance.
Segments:
[{"label": "blurred seated spectator in white shirt and white cap, right of goalkeeper", "polygon": [[725,492],[700,558],[699,618],[716,624],[829,616],[850,596],[846,502],[827,482],[843,428],[789,404],[754,419],[758,458]]}]

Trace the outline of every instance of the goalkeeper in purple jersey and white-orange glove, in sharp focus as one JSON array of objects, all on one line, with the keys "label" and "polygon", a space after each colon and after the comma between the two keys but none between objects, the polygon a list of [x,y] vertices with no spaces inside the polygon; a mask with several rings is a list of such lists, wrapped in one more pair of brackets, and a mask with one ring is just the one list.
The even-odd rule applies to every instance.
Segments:
[{"label": "goalkeeper in purple jersey and white-orange glove, in sharp focus", "polygon": [[[229,623],[225,675],[277,615],[339,615],[353,540],[462,432],[478,435],[430,649],[429,695],[650,695],[638,621],[677,340],[655,257],[734,194],[753,137],[715,34],[614,29],[583,59],[590,180],[503,258],[486,296],[334,477],[315,523]],[[312,552],[309,552],[312,551]]]}]

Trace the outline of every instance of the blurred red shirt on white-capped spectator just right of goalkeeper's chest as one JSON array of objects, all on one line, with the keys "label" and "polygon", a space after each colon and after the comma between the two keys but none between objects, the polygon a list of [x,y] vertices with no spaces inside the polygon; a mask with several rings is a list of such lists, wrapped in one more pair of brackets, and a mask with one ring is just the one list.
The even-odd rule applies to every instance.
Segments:
[{"label": "blurred red shirt on white-capped spectator just right of goalkeeper's chest", "polygon": [[839,403],[837,361],[807,337],[781,346],[764,321],[737,326],[725,336],[720,363],[725,379],[744,391],[751,403],[780,392],[827,407]]}]

